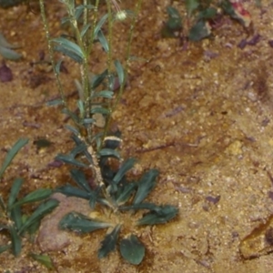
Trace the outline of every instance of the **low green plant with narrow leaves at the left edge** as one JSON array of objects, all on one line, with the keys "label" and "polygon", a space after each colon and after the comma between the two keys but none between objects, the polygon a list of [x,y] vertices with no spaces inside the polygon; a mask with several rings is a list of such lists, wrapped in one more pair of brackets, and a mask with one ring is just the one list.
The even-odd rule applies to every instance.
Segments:
[{"label": "low green plant with narrow leaves at the left edge", "polygon": [[[19,139],[8,151],[0,170],[0,180],[5,173],[5,169],[11,164],[17,152],[24,147],[27,142],[27,139]],[[33,235],[39,227],[40,220],[58,205],[56,200],[48,200],[36,207],[31,215],[23,214],[23,205],[45,200],[51,195],[52,190],[39,188],[27,194],[25,197],[18,199],[22,185],[23,179],[15,178],[6,202],[4,197],[0,195],[0,231],[11,238],[11,243],[0,246],[0,253],[11,248],[13,254],[18,256],[21,252],[22,238],[25,236],[25,233]]]}]

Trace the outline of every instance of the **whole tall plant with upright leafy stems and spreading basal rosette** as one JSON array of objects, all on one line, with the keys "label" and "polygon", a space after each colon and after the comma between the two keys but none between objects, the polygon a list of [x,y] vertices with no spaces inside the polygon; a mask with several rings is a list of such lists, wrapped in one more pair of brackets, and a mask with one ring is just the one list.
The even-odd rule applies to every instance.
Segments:
[{"label": "whole tall plant with upright leafy stems and spreading basal rosette", "polygon": [[[116,164],[120,165],[121,157],[117,147],[121,139],[109,132],[109,125],[126,86],[128,64],[133,58],[136,59],[131,56],[131,44],[142,1],[136,0],[134,12],[120,9],[116,0],[102,2],[84,0],[82,4],[76,5],[74,0],[61,0],[67,11],[62,23],[69,25],[71,31],[59,37],[52,37],[45,15],[44,0],[40,0],[48,49],[61,96],[60,99],[50,102],[50,105],[62,106],[63,113],[70,116],[74,126],[66,127],[72,132],[76,144],[68,155],[58,155],[57,159],[77,167],[71,170],[71,176],[78,187],[66,185],[57,191],[66,196],[87,199],[96,215],[86,217],[71,212],[61,220],[60,227],[78,233],[110,227],[112,230],[102,241],[98,257],[106,257],[116,249],[119,242],[123,258],[132,264],[139,264],[145,256],[145,247],[136,237],[136,228],[167,223],[177,215],[177,207],[144,202],[156,186],[156,169],[148,171],[138,182],[131,182],[127,181],[126,173],[134,166],[135,159],[127,159],[117,170],[114,167]],[[107,13],[101,15],[100,6],[104,4]],[[113,50],[114,25],[121,24],[120,22],[126,19],[130,20],[130,28],[124,49],[125,56],[123,61],[120,61]],[[100,45],[100,48],[95,45]],[[76,81],[78,112],[69,108],[70,104],[67,103],[60,76],[64,57],[55,61],[56,52],[74,61],[79,67],[81,79]],[[103,55],[106,57],[103,58]],[[101,56],[102,62],[105,62],[105,69],[99,73],[90,69],[89,61],[93,56]],[[104,121],[102,125],[98,124],[99,119]],[[83,171],[79,169],[81,167]],[[90,179],[92,187],[88,183]],[[141,216],[141,210],[145,210],[147,214]],[[133,221],[137,217],[140,218]],[[130,225],[127,224],[126,218],[131,219]],[[122,231],[129,235],[119,241],[119,233]]]}]

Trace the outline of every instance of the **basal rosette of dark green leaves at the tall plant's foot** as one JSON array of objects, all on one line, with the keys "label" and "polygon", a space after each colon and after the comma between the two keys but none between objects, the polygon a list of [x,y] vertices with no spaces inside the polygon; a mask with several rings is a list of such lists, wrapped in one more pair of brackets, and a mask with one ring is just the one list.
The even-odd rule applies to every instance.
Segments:
[{"label": "basal rosette of dark green leaves at the tall plant's foot", "polygon": [[[75,166],[87,168],[91,163],[87,147],[76,136],[74,139],[76,147],[81,147],[77,151],[81,150],[80,154],[86,155],[86,163],[76,160],[75,153],[56,158]],[[115,148],[115,142],[106,141],[105,149]],[[111,227],[111,231],[101,242],[98,258],[106,257],[109,252],[116,249],[116,245],[119,245],[122,257],[131,264],[138,265],[145,256],[145,247],[134,234],[136,229],[146,225],[165,224],[177,216],[178,209],[169,205],[157,206],[154,203],[145,202],[149,193],[156,186],[157,169],[147,171],[138,181],[128,181],[126,173],[134,166],[136,160],[129,158],[117,170],[114,170],[108,164],[108,157],[101,157],[99,162],[103,184],[90,187],[88,183],[90,177],[86,177],[83,171],[74,168],[71,170],[71,176],[77,187],[66,185],[56,189],[66,196],[85,198],[98,216],[96,213],[95,217],[86,217],[77,212],[70,212],[61,220],[59,226],[77,233],[93,232],[96,229]],[[145,214],[140,214],[141,210],[144,210]],[[133,219],[128,220],[130,217]],[[135,220],[137,217],[139,218]],[[126,238],[119,240],[122,227],[127,235]]]}]

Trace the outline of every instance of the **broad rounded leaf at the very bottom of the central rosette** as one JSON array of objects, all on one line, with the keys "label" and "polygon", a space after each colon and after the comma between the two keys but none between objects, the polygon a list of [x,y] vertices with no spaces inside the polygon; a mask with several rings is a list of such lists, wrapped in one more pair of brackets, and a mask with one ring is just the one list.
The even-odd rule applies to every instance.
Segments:
[{"label": "broad rounded leaf at the very bottom of the central rosette", "polygon": [[120,253],[132,265],[139,265],[145,256],[145,247],[135,235],[120,242]]}]

